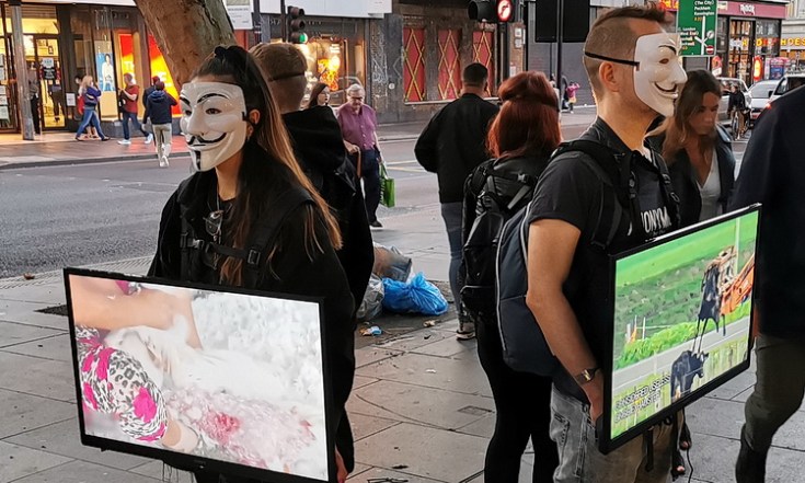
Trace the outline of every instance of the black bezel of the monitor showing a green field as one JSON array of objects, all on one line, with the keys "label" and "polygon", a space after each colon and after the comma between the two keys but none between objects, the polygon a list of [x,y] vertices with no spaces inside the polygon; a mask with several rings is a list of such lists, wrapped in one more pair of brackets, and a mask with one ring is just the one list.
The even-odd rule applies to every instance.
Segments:
[{"label": "black bezel of the monitor showing a green field", "polygon": [[[679,411],[683,410],[686,406],[692,404],[697,400],[705,396],[708,393],[713,391],[714,389],[717,389],[722,384],[726,383],[740,372],[744,372],[747,370],[751,364],[751,338],[755,327],[755,310],[751,310],[749,313],[749,333],[747,335],[747,357],[746,360],[741,361],[740,364],[736,365],[732,369],[728,369],[726,372],[723,372],[712,381],[705,383],[704,386],[699,387],[695,391],[691,391],[689,394],[683,395],[679,400],[672,402],[667,407],[660,410],[653,416],[648,417],[647,419],[636,424],[632,428],[621,433],[616,438],[612,438],[612,347],[614,346],[614,303],[616,303],[616,266],[618,261],[623,260],[628,256],[634,255],[636,253],[644,252],[646,250],[654,249],[656,246],[659,246],[665,243],[672,242],[675,240],[678,240],[682,237],[687,237],[692,233],[697,233],[699,231],[705,230],[708,228],[714,227],[716,225],[720,225],[725,221],[729,221],[736,218],[740,218],[745,215],[748,215],[750,212],[758,212],[758,228],[757,228],[757,235],[756,235],[756,242],[755,242],[755,252],[757,256],[757,248],[760,244],[760,223],[761,223],[761,209],[760,204],[754,204],[750,206],[747,206],[745,208],[740,208],[735,211],[729,211],[725,215],[721,215],[718,217],[701,221],[699,223],[692,225],[690,227],[682,228],[680,230],[674,231],[671,233],[668,233],[663,237],[657,237],[654,240],[651,240],[649,242],[642,244],[640,246],[636,246],[631,250],[626,250],[623,252],[620,252],[618,254],[610,256],[610,284],[609,284],[609,313],[611,314],[611,323],[608,324],[607,329],[607,354],[610,355],[610,357],[606,358],[603,361],[601,361],[600,367],[603,370],[605,380],[603,380],[603,413],[601,414],[601,419],[598,430],[598,448],[599,450],[607,455],[621,446],[625,445],[630,440],[634,439],[635,437],[642,435],[645,433],[648,428],[656,426],[657,424],[663,423],[668,417],[671,417]],[[757,280],[757,277],[756,277]],[[752,287],[752,309],[755,308],[756,302],[756,294],[755,287]]]}]

